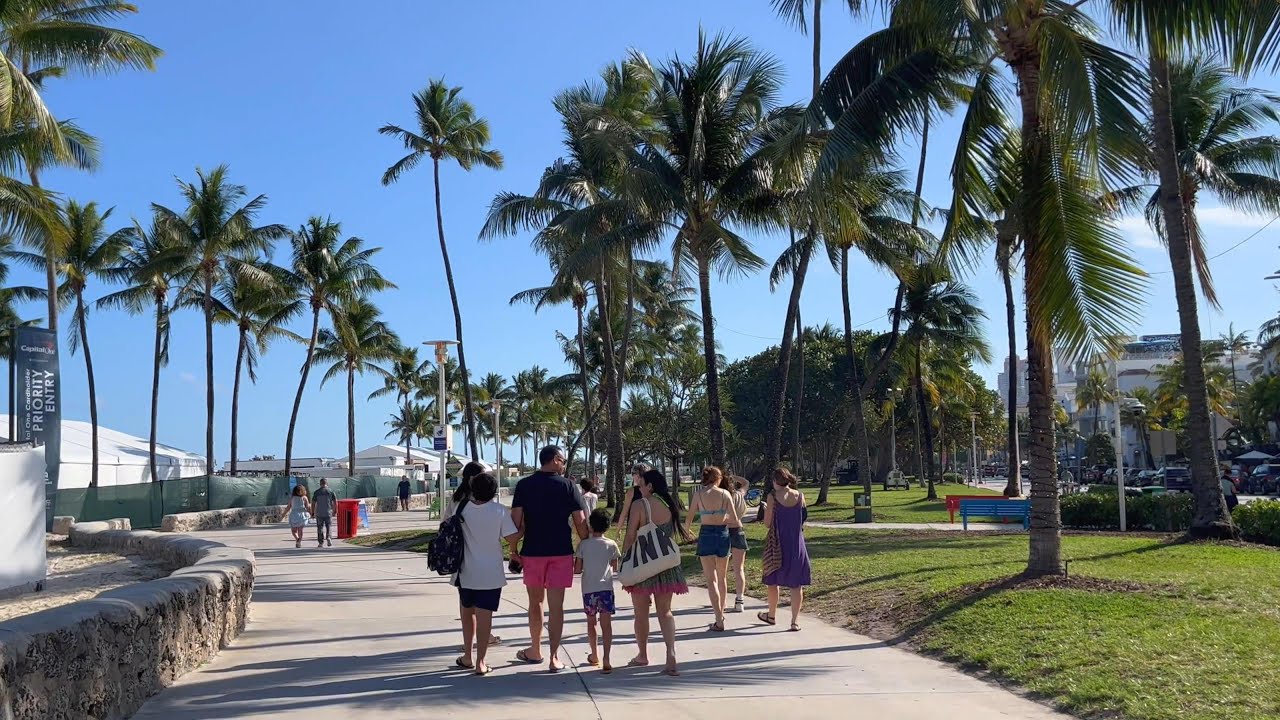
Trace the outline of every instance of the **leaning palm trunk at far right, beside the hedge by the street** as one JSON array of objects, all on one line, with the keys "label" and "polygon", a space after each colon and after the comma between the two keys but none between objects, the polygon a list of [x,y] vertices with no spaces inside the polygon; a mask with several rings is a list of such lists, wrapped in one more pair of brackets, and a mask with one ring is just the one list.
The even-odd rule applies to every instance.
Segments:
[{"label": "leaning palm trunk at far right, beside the hedge by the street", "polygon": [[1199,316],[1196,307],[1196,281],[1192,269],[1188,208],[1183,201],[1181,173],[1178,169],[1178,145],[1170,110],[1171,86],[1169,59],[1151,56],[1151,115],[1156,167],[1160,172],[1160,214],[1165,223],[1169,261],[1174,274],[1174,296],[1178,300],[1178,324],[1181,333],[1183,392],[1187,393],[1187,443],[1192,460],[1192,493],[1196,511],[1190,536],[1199,538],[1235,538],[1238,530],[1222,497],[1217,479],[1217,447],[1210,427],[1208,393],[1204,387],[1204,356],[1201,347]]}]

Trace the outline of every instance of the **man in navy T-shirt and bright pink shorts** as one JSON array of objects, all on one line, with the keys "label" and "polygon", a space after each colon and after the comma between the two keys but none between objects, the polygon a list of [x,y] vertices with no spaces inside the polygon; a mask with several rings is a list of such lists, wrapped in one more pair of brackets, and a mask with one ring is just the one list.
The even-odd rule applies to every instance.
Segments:
[{"label": "man in navy T-shirt and bright pink shorts", "polygon": [[524,562],[525,589],[529,591],[529,648],[516,657],[538,664],[543,659],[543,603],[549,609],[548,641],[550,671],[559,671],[561,635],[564,630],[564,591],[573,584],[573,536],[570,520],[580,539],[590,534],[582,493],[563,475],[564,452],[554,445],[538,454],[541,468],[516,483],[511,501],[511,518],[525,536],[520,550]]}]

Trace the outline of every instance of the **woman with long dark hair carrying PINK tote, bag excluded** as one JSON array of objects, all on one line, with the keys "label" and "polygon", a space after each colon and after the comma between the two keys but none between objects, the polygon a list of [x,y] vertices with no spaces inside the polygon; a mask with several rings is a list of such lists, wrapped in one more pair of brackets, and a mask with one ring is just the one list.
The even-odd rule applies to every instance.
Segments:
[{"label": "woman with long dark hair carrying PINK tote, bag excluded", "polygon": [[[627,537],[622,543],[623,557],[631,550],[631,546],[636,543],[640,528],[650,521],[666,529],[676,542],[680,542],[677,538],[689,539],[689,536],[685,533],[685,525],[680,523],[680,506],[671,497],[667,477],[658,470],[646,470],[640,477],[636,487],[640,488],[640,500],[631,505],[630,516],[627,518]],[[677,532],[680,536],[676,534]],[[653,605],[658,610],[658,626],[662,628],[662,639],[667,646],[667,666],[662,673],[672,678],[678,676],[680,670],[676,666],[676,616],[671,612],[671,602],[675,596],[689,592],[684,570],[681,570],[680,565],[676,565],[671,570],[663,570],[652,578],[641,580],[635,585],[623,587],[622,589],[631,593],[631,605],[635,607],[636,644],[640,648],[636,657],[627,665],[631,667],[649,665],[649,606]]]}]

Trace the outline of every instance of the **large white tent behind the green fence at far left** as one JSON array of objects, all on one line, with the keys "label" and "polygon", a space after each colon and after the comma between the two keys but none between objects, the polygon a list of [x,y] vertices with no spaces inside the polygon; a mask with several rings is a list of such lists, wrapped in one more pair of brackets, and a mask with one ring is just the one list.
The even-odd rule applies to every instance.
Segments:
[{"label": "large white tent behind the green fence at far left", "polygon": [[[8,432],[9,416],[0,415],[0,432]],[[82,420],[63,420],[60,488],[87,488],[92,478],[92,425]],[[97,428],[99,487],[128,486],[151,479],[147,466],[147,438]],[[160,479],[192,478],[205,474],[202,456],[156,443],[156,473]]]}]

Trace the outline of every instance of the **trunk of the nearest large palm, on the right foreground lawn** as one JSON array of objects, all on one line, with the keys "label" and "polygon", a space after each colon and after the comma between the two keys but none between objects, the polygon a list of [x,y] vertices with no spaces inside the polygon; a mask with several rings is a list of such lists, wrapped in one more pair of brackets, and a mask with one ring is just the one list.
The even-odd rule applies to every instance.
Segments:
[{"label": "trunk of the nearest large palm, on the right foreground lawn", "polygon": [[[1048,172],[1048,145],[1041,135],[1039,50],[1025,40],[1016,53],[1012,65],[1018,79],[1021,105],[1023,187],[1038,187],[1041,176]],[[1053,356],[1048,329],[1048,307],[1038,292],[1052,282],[1051,269],[1041,258],[1039,229],[1033,210],[1036,196],[1021,193],[1025,210],[1023,218],[1023,263],[1027,295],[1027,409],[1030,415],[1028,451],[1032,475],[1030,542],[1027,557],[1027,575],[1062,575],[1062,516],[1057,495],[1056,457],[1053,456]],[[1038,209],[1038,208],[1036,208]]]}]

